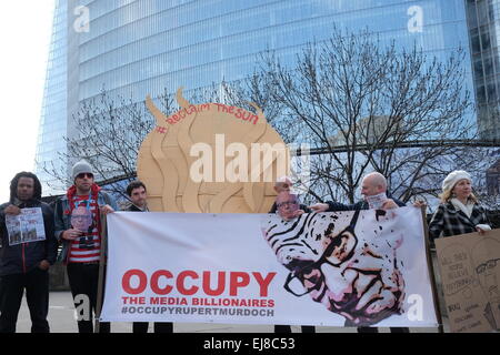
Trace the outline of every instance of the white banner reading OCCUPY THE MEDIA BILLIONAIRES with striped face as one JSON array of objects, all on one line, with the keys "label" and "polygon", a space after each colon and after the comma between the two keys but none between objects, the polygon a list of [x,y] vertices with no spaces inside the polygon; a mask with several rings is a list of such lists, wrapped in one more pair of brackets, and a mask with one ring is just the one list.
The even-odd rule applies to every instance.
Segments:
[{"label": "white banner reading OCCUPY THE MEDIA BILLIONAIRES with striped face", "polygon": [[103,322],[434,327],[421,211],[108,216]]}]

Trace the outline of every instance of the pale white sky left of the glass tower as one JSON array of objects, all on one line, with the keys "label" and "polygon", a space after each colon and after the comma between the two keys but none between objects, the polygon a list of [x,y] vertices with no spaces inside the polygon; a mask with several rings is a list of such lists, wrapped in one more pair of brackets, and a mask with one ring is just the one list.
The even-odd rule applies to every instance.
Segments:
[{"label": "pale white sky left of the glass tower", "polygon": [[0,203],[12,178],[34,171],[54,0],[0,1]]}]

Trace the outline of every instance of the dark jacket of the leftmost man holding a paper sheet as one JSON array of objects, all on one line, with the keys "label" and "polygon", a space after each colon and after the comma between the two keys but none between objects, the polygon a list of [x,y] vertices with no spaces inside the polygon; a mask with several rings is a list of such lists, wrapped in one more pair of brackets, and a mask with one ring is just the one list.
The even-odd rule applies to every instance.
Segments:
[{"label": "dark jacket of the leftmost man holding a paper sheet", "polygon": [[20,209],[41,207],[46,240],[10,246],[6,214],[3,212],[9,205],[10,203],[4,203],[0,206],[0,237],[2,241],[2,247],[0,248],[0,276],[28,273],[38,267],[42,260],[47,260],[51,265],[56,263],[58,242],[53,235],[52,207],[36,200],[22,203],[19,206]]}]

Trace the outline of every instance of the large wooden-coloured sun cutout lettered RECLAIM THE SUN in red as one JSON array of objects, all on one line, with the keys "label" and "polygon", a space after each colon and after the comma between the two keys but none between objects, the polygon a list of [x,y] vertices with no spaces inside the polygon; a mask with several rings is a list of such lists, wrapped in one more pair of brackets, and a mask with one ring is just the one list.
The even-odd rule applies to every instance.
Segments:
[{"label": "large wooden-coloured sun cutout lettered RECLAIM THE SUN in red", "polygon": [[191,104],[167,116],[147,99],[157,120],[142,142],[137,172],[154,212],[267,213],[274,181],[289,174],[289,150],[257,113],[221,103]]}]

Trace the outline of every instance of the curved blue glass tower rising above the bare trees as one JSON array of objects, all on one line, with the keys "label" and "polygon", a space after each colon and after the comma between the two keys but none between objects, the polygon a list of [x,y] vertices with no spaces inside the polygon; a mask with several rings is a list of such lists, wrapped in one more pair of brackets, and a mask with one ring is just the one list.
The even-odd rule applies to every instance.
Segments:
[{"label": "curved blue glass tower rising above the bare trees", "polygon": [[[79,103],[102,89],[142,101],[164,89],[174,92],[179,87],[190,90],[242,79],[253,72],[257,53],[272,49],[291,61],[306,43],[328,39],[333,27],[368,29],[382,43],[394,40],[400,48],[416,43],[442,60],[463,48],[466,85],[476,92],[469,50],[471,2],[481,0],[60,0],[58,10],[66,8],[67,19],[56,11],[54,31],[58,21],[67,21],[67,33],[60,33],[67,36],[67,61],[58,63],[68,75],[60,85],[52,85],[56,81],[48,77],[46,98],[64,89],[66,105],[61,101],[58,109],[67,113],[43,112],[37,156],[53,159],[43,138],[63,132]],[[86,18],[88,23],[78,30],[76,23]],[[489,19],[492,32],[496,17]],[[483,20],[477,18],[477,24]],[[483,52],[481,47],[482,62],[488,60]],[[488,80],[484,90],[492,79]]]}]

